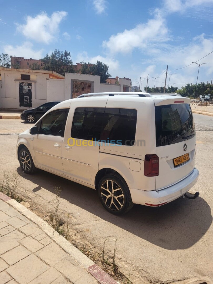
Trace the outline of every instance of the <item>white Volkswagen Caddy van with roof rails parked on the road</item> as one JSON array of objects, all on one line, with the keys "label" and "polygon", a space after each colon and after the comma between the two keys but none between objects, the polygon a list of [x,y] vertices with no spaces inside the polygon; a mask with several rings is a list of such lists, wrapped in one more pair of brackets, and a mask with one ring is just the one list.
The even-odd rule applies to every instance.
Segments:
[{"label": "white Volkswagen Caddy van with roof rails parked on the road", "polygon": [[190,99],[175,94],[93,93],[63,101],[18,136],[22,170],[36,168],[98,191],[113,214],[160,206],[196,183]]}]

